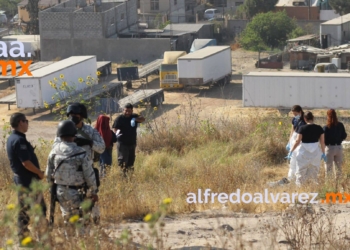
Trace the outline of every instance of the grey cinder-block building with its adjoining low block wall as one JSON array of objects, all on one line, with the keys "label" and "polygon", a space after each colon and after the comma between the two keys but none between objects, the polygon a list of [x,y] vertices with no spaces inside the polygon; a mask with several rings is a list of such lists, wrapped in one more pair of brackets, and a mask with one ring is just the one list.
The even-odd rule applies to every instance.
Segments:
[{"label": "grey cinder-block building with its adjoining low block wall", "polygon": [[39,12],[41,60],[96,55],[98,61],[148,63],[170,49],[170,39],[120,38],[137,27],[137,0],[99,2],[69,0]]}]

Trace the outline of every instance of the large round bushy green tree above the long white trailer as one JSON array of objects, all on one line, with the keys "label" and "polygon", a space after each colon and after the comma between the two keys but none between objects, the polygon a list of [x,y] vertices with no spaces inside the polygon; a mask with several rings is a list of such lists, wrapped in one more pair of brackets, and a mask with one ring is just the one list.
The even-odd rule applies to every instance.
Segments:
[{"label": "large round bushy green tree above the long white trailer", "polygon": [[[298,26],[283,11],[256,15],[239,38],[240,45],[249,50],[276,48],[286,42]],[[300,30],[299,30],[300,31]],[[296,34],[299,33],[296,31]]]}]

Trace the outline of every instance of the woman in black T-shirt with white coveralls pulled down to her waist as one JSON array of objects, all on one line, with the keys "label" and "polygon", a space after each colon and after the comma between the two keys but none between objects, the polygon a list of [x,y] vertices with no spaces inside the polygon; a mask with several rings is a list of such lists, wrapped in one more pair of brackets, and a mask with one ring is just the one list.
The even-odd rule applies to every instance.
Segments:
[{"label": "woman in black T-shirt with white coveralls pulled down to her waist", "polygon": [[[321,160],[327,161],[322,127],[314,124],[314,116],[311,112],[305,114],[304,120],[306,125],[299,127],[295,144],[287,156],[290,159],[294,150],[300,145],[296,152],[295,176],[297,186],[310,181],[317,183]],[[319,143],[321,144],[321,149]]]}]

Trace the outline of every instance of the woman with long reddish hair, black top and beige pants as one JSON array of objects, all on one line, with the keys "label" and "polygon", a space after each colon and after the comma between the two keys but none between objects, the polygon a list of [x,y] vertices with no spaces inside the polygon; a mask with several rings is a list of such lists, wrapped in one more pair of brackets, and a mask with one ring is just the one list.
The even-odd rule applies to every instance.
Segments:
[{"label": "woman with long reddish hair, black top and beige pants", "polygon": [[343,163],[343,147],[341,143],[348,136],[345,132],[343,123],[338,121],[334,109],[327,111],[327,125],[323,127],[327,162],[325,163],[326,176],[329,177],[333,172],[333,162],[336,166],[336,178],[340,179]]}]

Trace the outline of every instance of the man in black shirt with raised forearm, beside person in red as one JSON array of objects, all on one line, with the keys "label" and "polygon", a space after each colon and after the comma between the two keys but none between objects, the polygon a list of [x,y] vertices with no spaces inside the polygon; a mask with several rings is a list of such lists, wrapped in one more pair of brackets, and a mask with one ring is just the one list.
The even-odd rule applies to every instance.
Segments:
[{"label": "man in black shirt with raised forearm, beside person in red", "polygon": [[126,104],[123,114],[115,119],[112,126],[118,139],[118,165],[122,168],[124,176],[126,176],[128,170],[133,170],[135,162],[137,123],[145,121],[144,117],[132,112],[132,104]]}]

